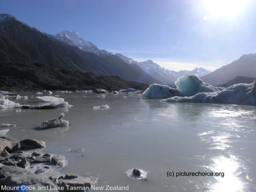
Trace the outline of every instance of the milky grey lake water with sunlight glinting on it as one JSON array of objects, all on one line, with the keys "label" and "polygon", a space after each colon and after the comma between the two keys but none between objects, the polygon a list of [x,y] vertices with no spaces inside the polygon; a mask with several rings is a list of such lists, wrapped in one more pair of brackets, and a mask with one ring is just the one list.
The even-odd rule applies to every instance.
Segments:
[{"label": "milky grey lake water with sunlight glinting on it", "polygon": [[[20,104],[38,105],[31,99],[35,92],[19,95],[29,98],[17,100]],[[17,124],[9,136],[43,140],[43,152],[65,156],[68,163],[60,174],[97,177],[103,191],[106,186],[129,186],[131,192],[256,191],[255,106],[170,104],[130,94],[52,95],[73,107],[0,109],[0,124]],[[104,104],[109,109],[93,109]],[[36,128],[60,113],[65,113],[68,127]],[[145,170],[147,180],[127,177],[132,168]],[[176,177],[183,172],[219,176]]]}]

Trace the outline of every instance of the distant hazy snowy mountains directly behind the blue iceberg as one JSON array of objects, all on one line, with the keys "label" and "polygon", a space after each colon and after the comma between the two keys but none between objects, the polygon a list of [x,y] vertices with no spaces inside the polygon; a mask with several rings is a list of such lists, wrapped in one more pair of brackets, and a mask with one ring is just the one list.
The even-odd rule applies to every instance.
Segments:
[{"label": "distant hazy snowy mountains directly behind the blue iceberg", "polygon": [[161,81],[161,83],[163,83],[163,84],[173,85],[174,82],[177,81],[177,79],[179,77],[182,77],[185,74],[202,77],[202,76],[210,73],[209,70],[206,70],[202,67],[195,68],[194,70],[191,70],[191,71],[180,70],[179,72],[175,72],[174,70],[168,70],[166,68],[160,67],[157,63],[154,63],[152,60],[138,62],[138,61],[132,60],[132,58],[127,58],[126,56],[124,56],[122,54],[115,54],[115,55],[118,56],[119,58],[121,58],[126,63],[138,65],[145,72],[150,74],[150,76],[154,77],[158,81]]}]

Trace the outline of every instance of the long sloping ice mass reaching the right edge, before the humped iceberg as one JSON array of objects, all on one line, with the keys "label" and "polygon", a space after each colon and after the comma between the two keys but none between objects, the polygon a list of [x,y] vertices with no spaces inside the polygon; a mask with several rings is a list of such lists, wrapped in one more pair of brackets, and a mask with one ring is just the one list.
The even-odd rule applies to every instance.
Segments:
[{"label": "long sloping ice mass reaching the right edge, before the humped iceberg", "polygon": [[190,97],[172,97],[163,102],[203,102],[256,106],[256,81],[251,84],[234,84],[212,93],[197,93]]}]

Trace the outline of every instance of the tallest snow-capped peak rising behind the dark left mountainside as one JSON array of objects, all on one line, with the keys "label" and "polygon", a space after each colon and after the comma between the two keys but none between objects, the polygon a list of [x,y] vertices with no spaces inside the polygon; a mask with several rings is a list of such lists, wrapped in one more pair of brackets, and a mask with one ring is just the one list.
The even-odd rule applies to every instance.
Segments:
[{"label": "tallest snow-capped peak rising behind the dark left mountainside", "polygon": [[97,55],[111,54],[104,49],[99,49],[99,47],[94,45],[92,42],[84,40],[76,31],[70,32],[65,30],[57,35],[53,35],[53,37],[60,40],[64,44],[75,46],[83,51],[93,52]]}]

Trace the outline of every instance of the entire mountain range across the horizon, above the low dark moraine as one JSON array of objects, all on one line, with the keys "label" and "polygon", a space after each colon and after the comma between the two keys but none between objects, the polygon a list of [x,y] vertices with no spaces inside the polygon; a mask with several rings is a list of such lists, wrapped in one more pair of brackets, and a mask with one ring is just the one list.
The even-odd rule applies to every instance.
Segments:
[{"label": "entire mountain range across the horizon, above the low dark moraine", "polygon": [[119,76],[146,84],[173,85],[184,74],[196,75],[212,85],[226,83],[237,76],[256,77],[256,54],[241,56],[214,72],[204,68],[175,72],[152,60],[139,62],[122,54],[111,54],[84,40],[77,32],[43,33],[8,14],[0,14],[0,44],[0,63],[44,63],[50,67],[92,72],[97,76]]}]

